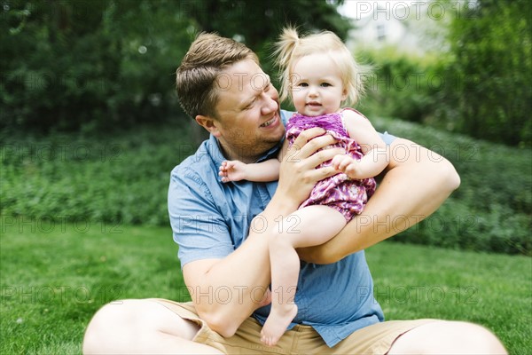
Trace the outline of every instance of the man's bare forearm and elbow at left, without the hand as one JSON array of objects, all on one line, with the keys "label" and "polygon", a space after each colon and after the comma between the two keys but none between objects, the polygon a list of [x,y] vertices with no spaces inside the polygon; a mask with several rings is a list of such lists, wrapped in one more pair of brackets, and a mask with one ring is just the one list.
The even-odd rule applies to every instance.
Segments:
[{"label": "man's bare forearm and elbow at left, without the hand", "polygon": [[[274,196],[262,214],[255,217],[246,241],[231,255],[194,262],[198,264],[192,270],[185,265],[185,283],[198,314],[221,335],[233,335],[263,305],[264,293],[270,285],[269,233],[279,215],[287,216],[296,208]],[[205,267],[200,263],[205,263]]]}]

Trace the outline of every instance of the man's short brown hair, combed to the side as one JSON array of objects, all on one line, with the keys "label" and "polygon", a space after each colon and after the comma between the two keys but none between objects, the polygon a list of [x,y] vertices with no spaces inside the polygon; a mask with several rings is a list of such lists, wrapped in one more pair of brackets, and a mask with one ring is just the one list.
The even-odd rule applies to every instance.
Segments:
[{"label": "man's short brown hair, combed to the side", "polygon": [[240,60],[259,59],[245,44],[216,34],[202,33],[192,42],[176,71],[176,91],[186,114],[216,118],[216,80],[226,67]]}]

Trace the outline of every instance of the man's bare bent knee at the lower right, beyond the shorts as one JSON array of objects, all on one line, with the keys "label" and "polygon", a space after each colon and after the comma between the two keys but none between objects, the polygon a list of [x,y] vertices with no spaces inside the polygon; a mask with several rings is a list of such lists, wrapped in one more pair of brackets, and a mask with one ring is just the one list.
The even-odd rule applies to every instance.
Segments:
[{"label": "man's bare bent knee at the lower right, beyond the shorts", "polygon": [[438,320],[401,335],[388,354],[507,354],[504,345],[485,327]]}]

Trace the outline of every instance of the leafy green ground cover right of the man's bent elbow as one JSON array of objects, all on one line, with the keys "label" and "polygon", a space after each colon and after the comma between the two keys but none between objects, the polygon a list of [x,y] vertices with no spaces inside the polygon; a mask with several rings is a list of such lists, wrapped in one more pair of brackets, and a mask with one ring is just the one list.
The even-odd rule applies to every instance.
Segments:
[{"label": "leafy green ground cover right of the man's bent elbow", "polygon": [[380,130],[446,157],[461,185],[434,215],[394,239],[448,248],[532,255],[532,152],[400,120]]}]

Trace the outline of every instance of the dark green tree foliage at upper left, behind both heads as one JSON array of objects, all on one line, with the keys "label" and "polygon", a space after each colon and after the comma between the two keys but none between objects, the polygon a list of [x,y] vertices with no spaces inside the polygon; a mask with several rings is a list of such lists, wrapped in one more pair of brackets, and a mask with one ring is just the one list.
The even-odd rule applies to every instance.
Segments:
[{"label": "dark green tree foliage at upper left, behind both heads", "polygon": [[4,0],[0,127],[101,130],[182,115],[174,73],[198,32],[234,37],[266,57],[287,23],[345,37],[339,3]]}]

